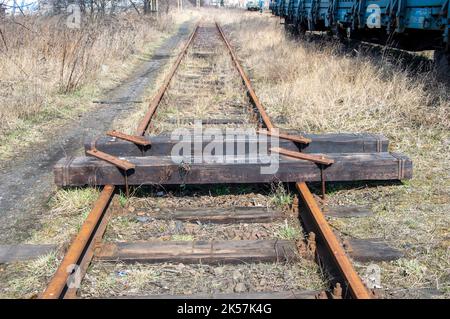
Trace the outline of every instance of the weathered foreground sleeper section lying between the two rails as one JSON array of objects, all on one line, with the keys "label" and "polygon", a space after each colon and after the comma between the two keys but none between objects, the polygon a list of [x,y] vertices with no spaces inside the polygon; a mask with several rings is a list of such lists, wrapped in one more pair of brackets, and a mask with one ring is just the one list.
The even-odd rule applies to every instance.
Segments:
[{"label": "weathered foreground sleeper section lying between the two rails", "polygon": [[237,264],[284,262],[297,258],[296,251],[294,242],[283,240],[150,241],[101,244],[96,258],[142,263]]}]

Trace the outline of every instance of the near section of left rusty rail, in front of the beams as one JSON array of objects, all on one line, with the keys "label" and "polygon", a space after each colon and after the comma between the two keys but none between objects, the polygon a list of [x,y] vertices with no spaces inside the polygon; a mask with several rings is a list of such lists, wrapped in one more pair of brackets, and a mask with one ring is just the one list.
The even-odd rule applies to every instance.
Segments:
[{"label": "near section of left rusty rail, in front of the beams", "polygon": [[107,185],[103,188],[94,208],[81,226],[77,237],[70,245],[46,290],[42,293],[41,299],[60,299],[63,297],[69,277],[72,275],[73,267],[79,265],[86,247],[88,247],[92,237],[95,235],[99,222],[102,220],[114,194],[114,190],[115,187],[113,185]]}]

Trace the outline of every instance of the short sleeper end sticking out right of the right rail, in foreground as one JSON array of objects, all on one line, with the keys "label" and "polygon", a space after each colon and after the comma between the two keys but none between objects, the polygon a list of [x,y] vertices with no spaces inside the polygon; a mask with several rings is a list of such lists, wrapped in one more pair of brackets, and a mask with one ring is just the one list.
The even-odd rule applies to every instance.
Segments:
[{"label": "short sleeper end sticking out right of the right rail, in foreground", "polygon": [[403,257],[403,253],[390,247],[381,239],[347,239],[345,250],[356,261],[391,261]]}]

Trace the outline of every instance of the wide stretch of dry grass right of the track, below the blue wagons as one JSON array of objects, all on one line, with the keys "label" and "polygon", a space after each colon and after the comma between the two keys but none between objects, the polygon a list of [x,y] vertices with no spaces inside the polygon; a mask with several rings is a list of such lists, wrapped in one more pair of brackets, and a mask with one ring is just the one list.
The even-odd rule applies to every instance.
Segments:
[{"label": "wide stretch of dry grass right of the track, below the blue wagons", "polygon": [[[388,55],[349,55],[338,43],[294,41],[268,16],[219,19],[272,118],[311,132],[383,133],[391,150],[412,158],[414,178],[402,185],[332,185],[330,204],[366,204],[375,216],[331,223],[350,236],[384,238],[406,253],[380,264],[388,293],[432,288],[450,296],[448,87]],[[366,265],[359,266],[364,272]]]}]

